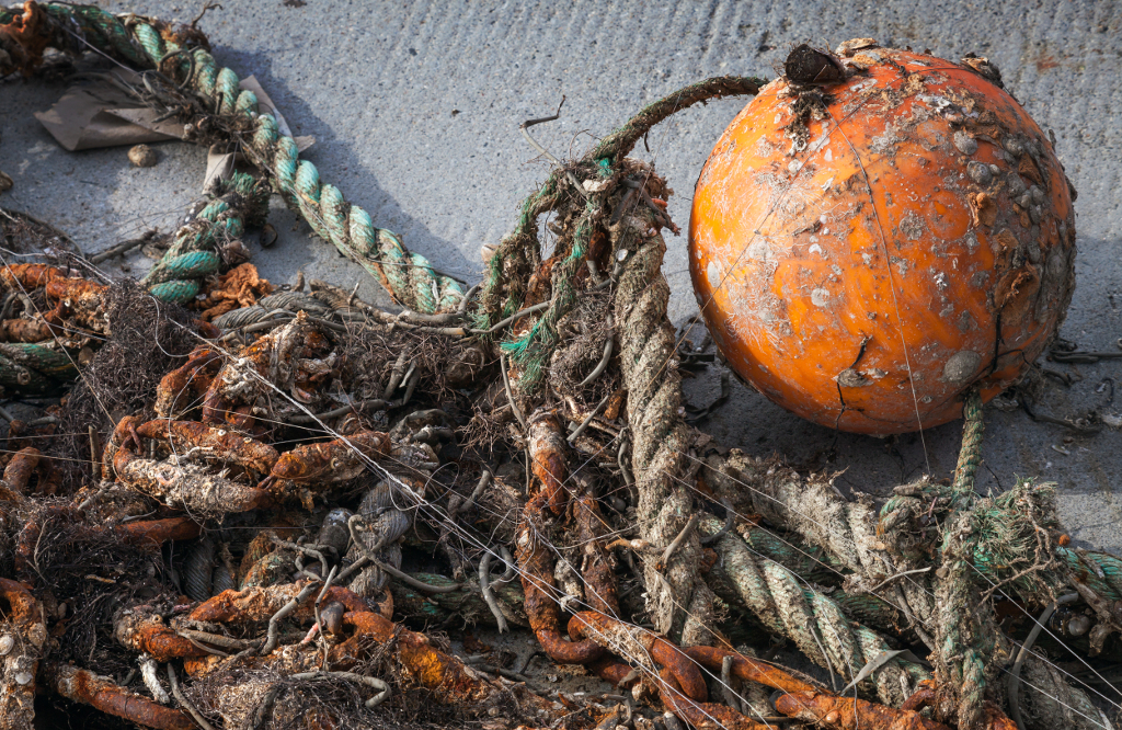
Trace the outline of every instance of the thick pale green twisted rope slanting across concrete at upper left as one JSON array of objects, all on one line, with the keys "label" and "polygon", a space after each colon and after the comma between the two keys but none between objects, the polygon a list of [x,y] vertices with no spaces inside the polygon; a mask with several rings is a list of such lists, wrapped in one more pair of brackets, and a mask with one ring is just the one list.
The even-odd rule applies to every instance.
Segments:
[{"label": "thick pale green twisted rope slanting across concrete at upper left", "polygon": [[[300,159],[295,140],[280,135],[276,118],[258,109],[256,94],[239,89],[238,75],[219,69],[208,51],[185,48],[174,33],[162,33],[155,21],[134,15],[126,22],[92,6],[33,7],[42,11],[40,38],[59,49],[84,49],[82,43],[89,44],[139,70],[162,69],[172,62],[177,82],[201,98],[204,112],[191,121],[200,140],[213,142],[220,135],[239,143],[312,230],[366,268],[401,304],[421,313],[452,311],[459,305],[460,284],[411,253],[396,234],[375,227],[370,216],[337,188],[322,183],[315,165]],[[11,22],[16,12],[0,13],[0,25]]]}]

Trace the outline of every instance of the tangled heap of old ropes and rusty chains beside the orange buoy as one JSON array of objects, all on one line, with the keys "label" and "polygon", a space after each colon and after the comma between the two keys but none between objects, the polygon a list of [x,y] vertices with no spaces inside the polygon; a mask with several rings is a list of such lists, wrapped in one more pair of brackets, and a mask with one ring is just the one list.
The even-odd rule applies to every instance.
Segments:
[{"label": "tangled heap of old ropes and rusty chains beside the orange buoy", "polygon": [[[83,44],[259,177],[141,284],[3,262],[0,386],[36,409],[0,409],[4,727],[1113,727],[1122,560],[1070,547],[1050,485],[975,494],[976,395],[953,480],[883,504],[686,423],[672,191],[627,154],[761,82],[559,163],[465,291],[322,184],[197,30],[0,11],[0,73]],[[260,280],[231,252],[266,190],[404,309]]]}]

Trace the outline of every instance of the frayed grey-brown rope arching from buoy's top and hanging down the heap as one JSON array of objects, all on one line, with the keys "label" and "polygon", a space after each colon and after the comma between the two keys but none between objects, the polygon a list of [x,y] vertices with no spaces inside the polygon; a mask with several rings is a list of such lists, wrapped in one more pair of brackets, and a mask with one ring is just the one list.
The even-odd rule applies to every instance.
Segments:
[{"label": "frayed grey-brown rope arching from buoy's top and hanging down the heap", "polygon": [[[635,212],[617,211],[622,215],[597,221],[597,209],[609,198],[624,199],[619,185],[625,173],[642,173],[641,185],[653,176],[653,170],[643,163],[626,161],[625,165],[624,159],[653,125],[697,102],[756,93],[758,83],[755,79],[726,76],[691,84],[650,104],[581,161],[554,170],[542,189],[523,203],[518,226],[496,249],[482,284],[480,325],[490,326],[522,304],[521,292],[541,258],[537,217],[565,203],[587,206],[586,215],[576,217],[571,247],[553,273],[549,310],[530,332],[506,345],[519,364],[528,366],[524,382],[532,389],[555,344],[553,327],[571,309],[576,296],[573,280],[587,257],[583,237],[591,232],[591,223],[606,229],[613,261],[623,259],[613,316],[618,322],[618,363],[627,390],[632,471],[638,485],[637,519],[642,538],[652,545],[670,545],[693,511],[690,490],[678,481],[692,435],[680,413],[680,378],[671,363],[675,343],[666,316],[670,288],[661,271],[665,243],[656,232],[664,221],[646,207]],[[601,190],[586,201],[587,190],[578,194],[571,189],[576,175],[570,173],[574,172],[595,179]],[[700,544],[696,535],[690,535],[673,551],[669,565],[660,569],[654,562],[647,562],[644,566],[647,609],[655,627],[686,645],[709,644],[712,639],[707,626],[712,619],[714,596],[698,572],[700,555]]]}]

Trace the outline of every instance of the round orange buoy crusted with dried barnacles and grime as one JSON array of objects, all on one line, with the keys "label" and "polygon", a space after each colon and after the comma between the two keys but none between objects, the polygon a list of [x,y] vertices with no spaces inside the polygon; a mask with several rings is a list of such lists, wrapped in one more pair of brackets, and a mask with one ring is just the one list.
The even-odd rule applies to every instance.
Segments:
[{"label": "round orange buoy crusted with dried barnacles and grime", "polygon": [[701,171],[698,304],[728,364],[830,428],[889,435],[987,400],[1052,339],[1075,213],[1052,143],[984,58],[800,46]]}]

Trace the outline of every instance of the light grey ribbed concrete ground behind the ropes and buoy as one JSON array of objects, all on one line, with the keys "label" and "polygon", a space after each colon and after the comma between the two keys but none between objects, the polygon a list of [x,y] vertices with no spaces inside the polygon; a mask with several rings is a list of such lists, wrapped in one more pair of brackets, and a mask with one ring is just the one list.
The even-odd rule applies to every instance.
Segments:
[{"label": "light grey ribbed concrete ground behind the ropes and buoy", "polygon": [[[116,11],[190,20],[200,3],[107,2]],[[1088,350],[1119,352],[1122,336],[1122,6],[1113,2],[440,2],[224,0],[200,21],[220,63],[256,74],[297,135],[314,135],[305,157],[325,181],[366,208],[378,226],[469,282],[479,247],[511,228],[521,199],[546,175],[518,124],[535,128],[559,156],[577,155],[641,106],[709,75],[772,77],[798,43],[836,46],[854,37],[930,48],[957,60],[988,56],[1009,89],[1058,140],[1079,192],[1078,286],[1061,336]],[[0,85],[0,170],[16,186],[0,204],[26,210],[96,252],[149,227],[167,229],[199,193],[205,150],[158,146],[159,164],[129,166],[126,148],[67,153],[31,117],[64,83]],[[678,191],[670,211],[683,229],[693,182],[712,144],[744,100],[679,113],[651,133],[650,153]],[[296,272],[352,285],[386,303],[369,277],[310,235],[276,201],[279,241],[254,262],[275,283]],[[686,239],[669,238],[664,273],[671,314],[697,309]],[[121,272],[120,259],[107,271]],[[150,262],[134,255],[137,274]],[[701,339],[693,329],[690,338]],[[1122,361],[1066,366],[1073,381],[1046,378],[1039,412],[1056,418],[1122,410]],[[718,369],[689,381],[691,402],[719,392]],[[1011,404],[1008,404],[1011,405]],[[701,428],[727,446],[778,451],[815,471],[840,471],[843,489],[884,494],[930,469],[949,475],[959,425],[891,440],[835,434],[733,385]],[[1080,436],[1034,422],[1020,409],[986,409],[985,466],[978,489],[1019,477],[1059,485],[1061,518],[1077,545],[1122,553],[1122,435]]]}]

